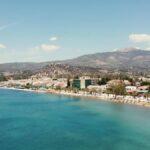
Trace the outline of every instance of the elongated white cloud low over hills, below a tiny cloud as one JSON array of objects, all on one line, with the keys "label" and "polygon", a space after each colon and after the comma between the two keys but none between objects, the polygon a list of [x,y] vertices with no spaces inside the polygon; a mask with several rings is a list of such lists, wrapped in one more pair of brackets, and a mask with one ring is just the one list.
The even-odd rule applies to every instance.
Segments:
[{"label": "elongated white cloud low over hills, below a tiny cloud", "polygon": [[40,46],[36,46],[36,47],[32,48],[31,50],[35,50],[35,51],[43,50],[46,52],[53,52],[58,49],[60,49],[60,46],[58,46],[58,45],[41,44]]}]

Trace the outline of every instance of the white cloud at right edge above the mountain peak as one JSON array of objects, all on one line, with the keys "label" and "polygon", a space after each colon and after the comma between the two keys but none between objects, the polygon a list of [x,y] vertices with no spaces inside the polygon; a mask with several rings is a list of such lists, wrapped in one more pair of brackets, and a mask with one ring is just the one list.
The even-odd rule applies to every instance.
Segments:
[{"label": "white cloud at right edge above the mountain peak", "polygon": [[150,35],[148,34],[131,34],[129,40],[135,43],[150,42]]}]

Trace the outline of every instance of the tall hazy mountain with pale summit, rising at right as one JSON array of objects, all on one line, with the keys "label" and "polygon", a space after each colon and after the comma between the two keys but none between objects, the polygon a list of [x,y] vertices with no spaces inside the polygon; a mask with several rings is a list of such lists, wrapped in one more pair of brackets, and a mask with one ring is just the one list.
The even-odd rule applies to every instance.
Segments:
[{"label": "tall hazy mountain with pale summit, rising at right", "polygon": [[150,70],[150,51],[126,48],[115,52],[84,55],[75,59],[62,61],[61,63],[102,69]]}]

